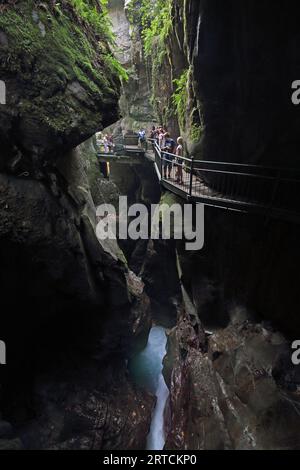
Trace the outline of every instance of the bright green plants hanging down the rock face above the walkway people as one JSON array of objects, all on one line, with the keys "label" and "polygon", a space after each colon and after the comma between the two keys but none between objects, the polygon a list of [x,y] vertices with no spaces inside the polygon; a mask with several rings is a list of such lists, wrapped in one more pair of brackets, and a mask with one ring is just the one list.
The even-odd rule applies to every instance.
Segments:
[{"label": "bright green plants hanging down the rock face above the walkway people", "polygon": [[[184,11],[184,0],[178,0],[177,4]],[[151,104],[158,121],[168,124],[176,116],[182,135],[189,141],[198,142],[204,127],[192,90],[193,68],[186,64],[181,72],[174,70],[171,40],[175,39],[173,22],[176,15],[172,0],[131,0],[127,3],[133,34],[143,43],[149,77],[151,74]]]}]

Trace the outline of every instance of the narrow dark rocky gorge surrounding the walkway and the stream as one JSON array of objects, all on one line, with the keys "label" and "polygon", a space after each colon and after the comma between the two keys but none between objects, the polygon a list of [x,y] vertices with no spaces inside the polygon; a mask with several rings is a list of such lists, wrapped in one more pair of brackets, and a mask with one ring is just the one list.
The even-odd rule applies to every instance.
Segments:
[{"label": "narrow dark rocky gorge surrounding the walkway and the stream", "polygon": [[283,0],[1,2],[0,450],[300,448],[300,229],[277,193],[205,204],[201,250],[174,220],[169,240],[97,236],[120,197],[197,205],[160,184],[153,141],[123,158],[105,135],[163,126],[192,162],[297,180],[299,24]]}]

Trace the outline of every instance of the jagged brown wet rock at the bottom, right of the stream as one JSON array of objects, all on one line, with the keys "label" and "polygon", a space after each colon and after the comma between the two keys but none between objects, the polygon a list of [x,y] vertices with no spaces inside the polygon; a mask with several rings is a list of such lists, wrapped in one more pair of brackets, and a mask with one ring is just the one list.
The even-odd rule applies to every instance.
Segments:
[{"label": "jagged brown wet rock at the bottom, right of the stream", "polygon": [[206,340],[185,317],[171,332],[166,449],[299,448],[300,376],[289,343],[242,317]]}]

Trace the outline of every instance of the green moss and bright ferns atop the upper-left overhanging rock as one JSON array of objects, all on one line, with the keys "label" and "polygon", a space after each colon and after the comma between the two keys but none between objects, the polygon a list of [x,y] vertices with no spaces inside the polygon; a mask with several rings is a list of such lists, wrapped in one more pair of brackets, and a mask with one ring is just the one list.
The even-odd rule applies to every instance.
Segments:
[{"label": "green moss and bright ferns atop the upper-left overhanging rock", "polygon": [[[56,3],[54,11],[50,6],[41,5],[37,11],[39,20],[45,26],[45,36],[41,35],[37,22],[32,18],[33,2],[20,2],[17,9],[8,7],[1,14],[0,28],[12,38],[13,44],[7,51],[8,70],[17,68],[19,57],[28,54],[45,63],[41,72],[44,68],[56,67],[59,69],[57,78],[61,81],[77,79],[92,94],[101,96],[105,90],[115,94],[115,86],[112,87],[110,81],[116,78],[127,80],[128,76],[108,47],[113,34],[108,19],[107,0],[100,0],[100,3],[98,0],[68,0]],[[72,18],[70,6],[80,21],[86,23],[88,31],[84,30],[80,21],[76,22]],[[24,18],[27,20],[24,21]],[[95,33],[101,39],[95,37],[92,40]],[[29,56],[23,60],[29,60]],[[101,63],[107,67],[111,78],[105,76],[105,67],[101,67]],[[24,74],[23,69],[19,72]],[[44,79],[47,80],[46,77]]]}]

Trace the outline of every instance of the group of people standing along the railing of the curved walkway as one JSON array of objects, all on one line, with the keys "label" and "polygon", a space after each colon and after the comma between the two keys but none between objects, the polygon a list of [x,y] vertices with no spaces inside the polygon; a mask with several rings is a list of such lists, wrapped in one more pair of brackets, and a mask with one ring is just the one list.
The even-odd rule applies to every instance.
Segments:
[{"label": "group of people standing along the railing of the curved walkway", "polygon": [[183,184],[183,138],[178,137],[175,142],[169,132],[163,126],[153,126],[150,138],[156,140],[162,151],[162,167],[164,178],[171,178],[172,169],[175,167],[176,183]]}]

